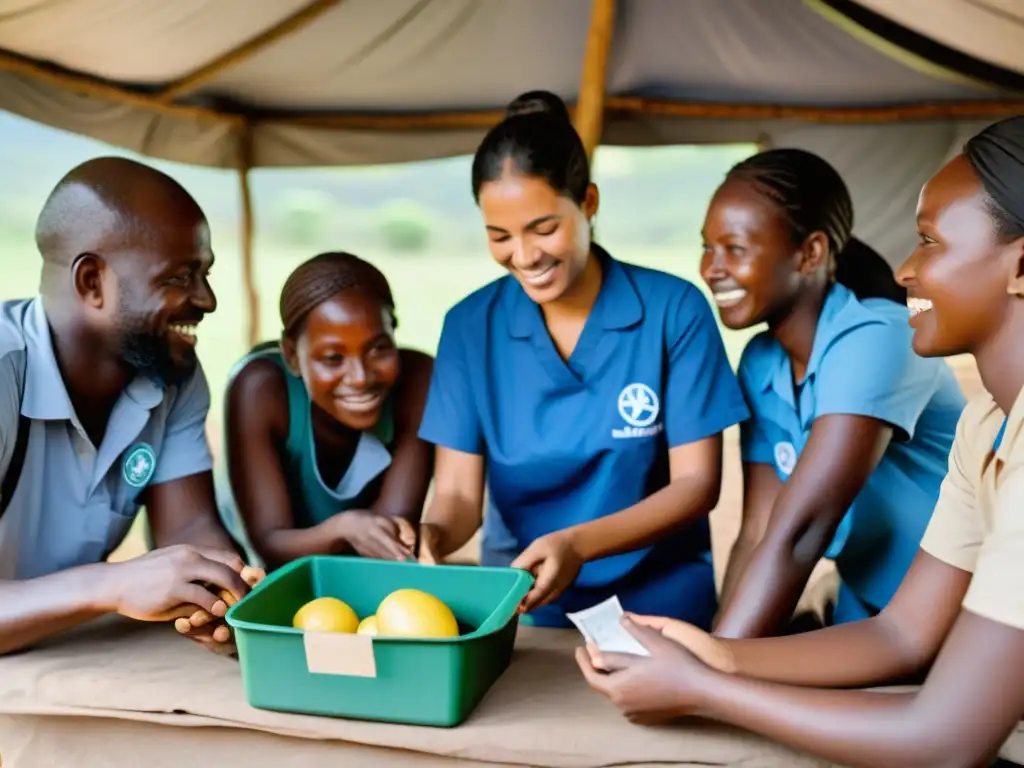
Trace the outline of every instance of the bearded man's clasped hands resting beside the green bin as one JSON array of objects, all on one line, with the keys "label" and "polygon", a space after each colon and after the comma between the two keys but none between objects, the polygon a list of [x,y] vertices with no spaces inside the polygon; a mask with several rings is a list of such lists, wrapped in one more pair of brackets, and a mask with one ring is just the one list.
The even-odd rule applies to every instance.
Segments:
[{"label": "bearded man's clasped hands resting beside the green bin", "polygon": [[174,622],[175,629],[220,653],[233,652],[228,607],[265,575],[234,552],[177,545],[112,563],[111,612],[141,622]]}]

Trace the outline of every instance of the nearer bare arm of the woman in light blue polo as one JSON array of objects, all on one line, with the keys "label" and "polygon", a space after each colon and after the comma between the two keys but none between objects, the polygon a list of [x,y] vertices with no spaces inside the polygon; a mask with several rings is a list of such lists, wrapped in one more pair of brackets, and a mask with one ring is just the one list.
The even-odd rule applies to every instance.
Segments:
[{"label": "nearer bare arm of the woman in light blue polo", "polygon": [[763,637],[788,621],[892,432],[891,426],[863,416],[815,420],[793,475],[778,493],[764,537],[736,577],[716,635]]}]

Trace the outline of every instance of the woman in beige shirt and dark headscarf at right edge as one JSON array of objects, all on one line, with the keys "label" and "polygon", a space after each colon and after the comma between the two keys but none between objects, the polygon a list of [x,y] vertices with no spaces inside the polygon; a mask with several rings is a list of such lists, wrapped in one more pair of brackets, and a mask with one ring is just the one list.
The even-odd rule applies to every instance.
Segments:
[{"label": "woman in beige shirt and dark headscarf at right edge", "polygon": [[[957,425],[921,550],[879,615],[723,640],[628,616],[649,657],[581,649],[632,720],[695,715],[830,762],[982,766],[1024,715],[1024,117],[995,123],[925,185],[897,279],[913,348],[970,353],[985,392]],[[843,690],[927,672],[919,690]]]}]

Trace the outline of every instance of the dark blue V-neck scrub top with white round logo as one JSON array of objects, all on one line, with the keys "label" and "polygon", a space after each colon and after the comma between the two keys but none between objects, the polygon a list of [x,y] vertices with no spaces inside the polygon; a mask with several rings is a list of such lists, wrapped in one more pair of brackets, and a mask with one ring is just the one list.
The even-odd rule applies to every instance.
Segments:
[{"label": "dark blue V-neck scrub top with white round logo", "polygon": [[[567,361],[511,275],[444,318],[420,436],[485,457],[490,505],[519,551],[642,501],[669,483],[670,447],[749,415],[703,295],[600,248],[594,257],[601,289]],[[587,563],[575,586],[613,584],[658,547],[707,558],[708,520]]]}]

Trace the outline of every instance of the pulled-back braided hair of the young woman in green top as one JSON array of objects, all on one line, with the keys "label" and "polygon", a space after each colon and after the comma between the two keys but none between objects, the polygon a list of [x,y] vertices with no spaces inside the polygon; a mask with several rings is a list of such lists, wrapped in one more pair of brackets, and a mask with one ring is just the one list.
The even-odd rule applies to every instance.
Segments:
[{"label": "pulled-back braided hair of the young woman in green top", "polygon": [[377,299],[397,328],[394,298],[383,272],[358,256],[332,251],[304,261],[285,282],[280,303],[284,335],[294,339],[301,334],[309,313],[342,291],[360,291]]}]

